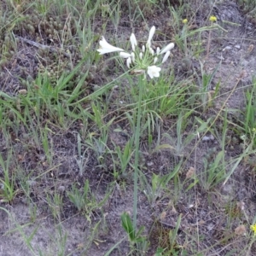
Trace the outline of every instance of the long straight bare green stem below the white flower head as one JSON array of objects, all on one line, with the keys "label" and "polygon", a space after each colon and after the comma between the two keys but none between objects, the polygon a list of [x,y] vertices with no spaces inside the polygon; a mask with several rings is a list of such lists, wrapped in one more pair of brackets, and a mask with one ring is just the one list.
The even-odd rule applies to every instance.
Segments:
[{"label": "long straight bare green stem below the white flower head", "polygon": [[142,115],[142,101],[143,101],[143,88],[144,88],[144,75],[139,76],[139,98],[137,102],[137,123],[135,131],[135,162],[134,162],[134,190],[133,190],[133,229],[136,231],[137,227],[137,177],[139,172],[139,145],[140,145],[140,132],[141,132],[141,115]]}]

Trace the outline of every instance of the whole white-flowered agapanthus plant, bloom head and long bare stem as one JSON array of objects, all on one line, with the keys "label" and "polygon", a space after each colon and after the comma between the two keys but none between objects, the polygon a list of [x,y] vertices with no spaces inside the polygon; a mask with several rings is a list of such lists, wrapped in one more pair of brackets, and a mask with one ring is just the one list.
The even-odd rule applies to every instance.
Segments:
[{"label": "whole white-flowered agapanthus plant, bloom head and long bare stem", "polygon": [[102,37],[100,40],[100,49],[97,51],[100,55],[104,55],[111,52],[119,52],[119,56],[124,58],[126,61],[126,66],[130,69],[132,68],[132,73],[139,75],[139,80],[137,87],[139,89],[138,98],[137,98],[137,123],[136,131],[134,137],[132,137],[133,142],[135,143],[135,159],[134,159],[134,199],[133,199],[133,229],[136,230],[137,226],[137,177],[139,172],[139,138],[141,132],[141,116],[142,116],[142,102],[143,102],[143,93],[147,86],[147,81],[145,79],[146,73],[150,79],[158,78],[160,76],[160,65],[167,61],[171,55],[171,49],[174,47],[174,44],[167,44],[166,47],[160,49],[157,47],[154,49],[151,47],[151,41],[154,36],[155,26],[152,26],[147,43],[140,49],[137,44],[137,39],[134,33],[131,33],[131,52],[125,51],[115,47],[111,44],[108,44],[106,39]]}]

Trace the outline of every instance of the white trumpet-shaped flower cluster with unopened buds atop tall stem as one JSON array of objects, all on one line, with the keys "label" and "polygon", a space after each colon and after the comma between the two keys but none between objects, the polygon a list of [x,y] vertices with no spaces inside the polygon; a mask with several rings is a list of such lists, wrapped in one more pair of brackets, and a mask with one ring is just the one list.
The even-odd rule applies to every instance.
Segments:
[{"label": "white trumpet-shaped flower cluster with unopened buds atop tall stem", "polygon": [[149,31],[147,44],[146,46],[143,45],[141,50],[137,49],[137,39],[134,33],[131,33],[131,53],[125,52],[124,49],[108,44],[104,37],[102,37],[102,40],[100,41],[101,48],[97,49],[97,51],[100,53],[100,55],[119,51],[120,57],[126,59],[127,67],[130,68],[131,65],[135,67],[134,73],[141,74],[145,73],[145,71],[147,70],[150,79],[153,79],[154,77],[158,78],[160,76],[161,68],[157,67],[156,64],[159,62],[160,55],[165,54],[161,61],[162,64],[166,62],[168,57],[171,55],[171,49],[174,47],[174,44],[168,44],[165,48],[161,50],[159,47],[157,47],[156,52],[154,52],[154,49],[151,48],[151,40],[154,36],[154,32],[155,26],[152,26]]}]

